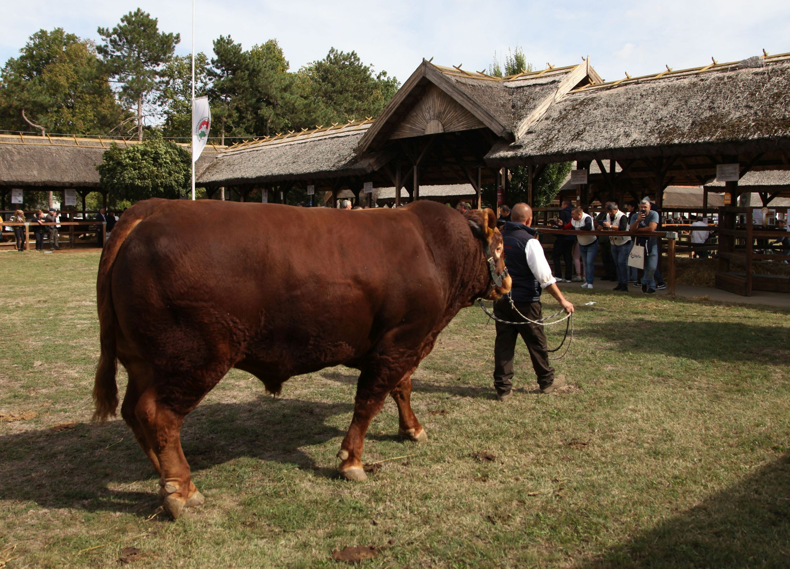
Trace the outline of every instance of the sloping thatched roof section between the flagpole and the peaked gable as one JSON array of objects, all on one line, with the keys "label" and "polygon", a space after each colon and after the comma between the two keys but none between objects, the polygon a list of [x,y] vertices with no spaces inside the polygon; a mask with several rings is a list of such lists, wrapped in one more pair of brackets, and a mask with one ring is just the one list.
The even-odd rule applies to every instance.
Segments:
[{"label": "sloping thatched roof section between the flagpole and the peaked gable", "polygon": [[369,122],[353,123],[231,147],[202,172],[199,183],[244,184],[367,174],[374,169],[375,157],[357,159],[355,151],[369,126]]}]

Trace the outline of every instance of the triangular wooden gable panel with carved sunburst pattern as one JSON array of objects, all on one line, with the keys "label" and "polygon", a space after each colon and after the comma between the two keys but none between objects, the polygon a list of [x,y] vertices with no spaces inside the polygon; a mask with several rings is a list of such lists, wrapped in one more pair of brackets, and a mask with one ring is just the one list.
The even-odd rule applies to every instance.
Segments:
[{"label": "triangular wooden gable panel with carved sunburst pattern", "polygon": [[483,127],[472,113],[456,103],[450,95],[431,84],[408,112],[391,138],[421,137],[423,134],[451,133]]}]

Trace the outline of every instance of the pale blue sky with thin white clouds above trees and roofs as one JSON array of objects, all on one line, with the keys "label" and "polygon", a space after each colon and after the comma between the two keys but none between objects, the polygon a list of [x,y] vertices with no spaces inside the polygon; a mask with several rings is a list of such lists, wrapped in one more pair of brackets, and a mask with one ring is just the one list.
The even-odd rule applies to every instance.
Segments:
[{"label": "pale blue sky with thin white clouds above trees and roofs", "polygon": [[[179,54],[191,49],[191,0],[4,2],[0,59],[15,56],[33,32],[62,27],[98,40],[123,13],[145,9],[160,29],[180,32]],[[597,4],[597,6],[596,6]],[[423,57],[464,69],[486,69],[495,51],[519,45],[537,69],[570,65],[589,54],[607,80],[624,72],[657,73],[761,53],[790,51],[790,2],[405,2],[197,0],[198,51],[230,34],[251,47],[276,38],[292,69],[329,47],[355,50],[364,62],[404,81]]]}]

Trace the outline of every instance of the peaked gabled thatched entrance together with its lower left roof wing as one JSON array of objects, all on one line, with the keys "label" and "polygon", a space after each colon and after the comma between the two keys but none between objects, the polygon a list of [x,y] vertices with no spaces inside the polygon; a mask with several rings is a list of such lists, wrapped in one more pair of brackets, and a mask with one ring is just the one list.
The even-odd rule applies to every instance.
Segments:
[{"label": "peaked gabled thatched entrance together with its lower left roof wing", "polygon": [[477,195],[480,183],[495,179],[483,155],[497,137],[516,140],[557,96],[600,81],[587,61],[500,78],[423,60],[375,121],[237,144],[199,182],[280,191],[312,184],[335,198],[344,188],[358,196],[372,182],[398,185],[412,199],[427,186],[472,183]]}]

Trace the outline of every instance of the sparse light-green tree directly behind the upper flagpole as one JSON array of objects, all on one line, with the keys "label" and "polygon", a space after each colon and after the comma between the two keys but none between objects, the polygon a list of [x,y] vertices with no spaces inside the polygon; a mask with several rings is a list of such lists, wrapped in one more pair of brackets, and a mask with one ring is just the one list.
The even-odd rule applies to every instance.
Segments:
[{"label": "sparse light-green tree directly behind the upper flagpole", "polygon": [[[177,55],[162,69],[162,85],[156,104],[164,116],[165,137],[192,137],[192,56]],[[209,92],[209,58],[195,54],[195,96]]]}]

